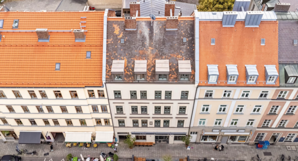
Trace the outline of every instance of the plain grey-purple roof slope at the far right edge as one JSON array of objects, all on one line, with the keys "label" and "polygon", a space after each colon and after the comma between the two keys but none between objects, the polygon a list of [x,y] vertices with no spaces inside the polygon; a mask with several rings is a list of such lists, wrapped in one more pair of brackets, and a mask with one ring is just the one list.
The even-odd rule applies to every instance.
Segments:
[{"label": "plain grey-purple roof slope at the far right edge", "polygon": [[297,21],[279,21],[278,24],[278,61],[279,63],[298,63],[298,46],[293,41],[298,40]]}]

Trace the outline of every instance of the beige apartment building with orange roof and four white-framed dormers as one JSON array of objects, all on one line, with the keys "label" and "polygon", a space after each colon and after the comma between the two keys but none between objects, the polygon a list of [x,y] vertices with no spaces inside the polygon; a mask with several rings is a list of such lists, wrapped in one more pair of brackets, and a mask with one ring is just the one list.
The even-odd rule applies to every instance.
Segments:
[{"label": "beige apartment building with orange roof and four white-framed dormers", "polygon": [[255,130],[279,87],[276,15],[271,11],[194,14],[199,74],[191,141],[254,144]]}]

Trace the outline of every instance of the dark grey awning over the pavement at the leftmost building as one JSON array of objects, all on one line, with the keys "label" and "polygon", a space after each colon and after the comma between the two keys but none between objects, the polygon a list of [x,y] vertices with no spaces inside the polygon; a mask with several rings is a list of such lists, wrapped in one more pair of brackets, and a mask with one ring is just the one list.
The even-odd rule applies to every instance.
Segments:
[{"label": "dark grey awning over the pavement at the leftmost building", "polygon": [[40,144],[41,131],[20,131],[19,144]]}]

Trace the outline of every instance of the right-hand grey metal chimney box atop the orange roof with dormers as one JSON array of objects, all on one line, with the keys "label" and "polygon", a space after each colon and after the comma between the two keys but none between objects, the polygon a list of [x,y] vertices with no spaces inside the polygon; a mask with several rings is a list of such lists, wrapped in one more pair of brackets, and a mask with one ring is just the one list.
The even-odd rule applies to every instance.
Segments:
[{"label": "right-hand grey metal chimney box atop the orange roof with dormers", "polygon": [[264,12],[248,11],[245,16],[245,27],[259,27]]}]

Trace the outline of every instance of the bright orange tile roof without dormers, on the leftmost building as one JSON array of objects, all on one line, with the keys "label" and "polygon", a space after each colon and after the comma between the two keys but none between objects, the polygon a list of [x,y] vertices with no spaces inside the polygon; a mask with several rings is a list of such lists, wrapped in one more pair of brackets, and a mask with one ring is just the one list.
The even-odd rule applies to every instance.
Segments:
[{"label": "bright orange tile roof without dormers, on the leftmost building", "polygon": [[[104,12],[0,12],[0,87],[102,86]],[[81,18],[82,17],[82,18]],[[86,17],[86,18],[84,18]],[[12,29],[19,19],[18,29]],[[86,41],[74,42],[71,29],[87,30]],[[5,32],[45,28],[50,42],[38,42],[36,32]],[[3,31],[4,30],[4,31]],[[91,51],[91,59],[86,52]],[[55,64],[61,63],[60,71]]]}]

